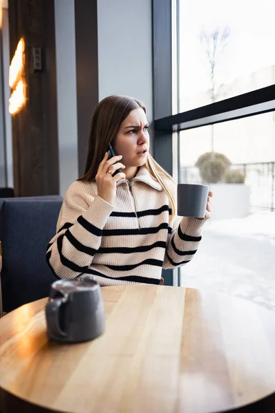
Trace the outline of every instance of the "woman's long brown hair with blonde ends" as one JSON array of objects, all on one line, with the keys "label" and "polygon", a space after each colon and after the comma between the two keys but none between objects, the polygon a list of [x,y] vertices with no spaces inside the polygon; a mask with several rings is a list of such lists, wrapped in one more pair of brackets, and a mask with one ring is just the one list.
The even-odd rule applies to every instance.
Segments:
[{"label": "woman's long brown hair with blonde ends", "polygon": [[[96,173],[108,144],[113,141],[118,134],[120,125],[133,109],[141,107],[146,113],[146,108],[140,100],[129,96],[112,95],[104,98],[96,105],[93,116],[91,116],[91,126],[89,131],[88,151],[84,175],[78,180],[89,181],[96,178]],[[170,200],[172,215],[175,217],[175,198],[168,185],[164,182],[164,177],[175,183],[173,178],[153,159],[148,153],[146,168],[161,185]]]}]

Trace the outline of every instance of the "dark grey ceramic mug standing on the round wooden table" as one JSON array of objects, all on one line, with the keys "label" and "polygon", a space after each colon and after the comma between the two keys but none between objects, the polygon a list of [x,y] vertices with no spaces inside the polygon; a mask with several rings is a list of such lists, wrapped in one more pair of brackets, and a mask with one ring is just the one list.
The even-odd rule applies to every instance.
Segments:
[{"label": "dark grey ceramic mug standing on the round wooden table", "polygon": [[56,341],[87,341],[104,332],[104,303],[94,279],[54,282],[45,313],[47,335]]}]

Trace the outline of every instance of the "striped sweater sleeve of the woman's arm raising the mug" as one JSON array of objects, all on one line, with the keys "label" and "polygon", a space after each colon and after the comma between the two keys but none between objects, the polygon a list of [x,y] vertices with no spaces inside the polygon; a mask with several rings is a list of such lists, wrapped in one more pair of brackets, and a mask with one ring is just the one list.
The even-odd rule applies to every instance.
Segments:
[{"label": "striped sweater sleeve of the woman's arm raising the mug", "polygon": [[168,235],[163,268],[176,268],[192,260],[199,242],[205,220],[177,217],[173,229]]}]

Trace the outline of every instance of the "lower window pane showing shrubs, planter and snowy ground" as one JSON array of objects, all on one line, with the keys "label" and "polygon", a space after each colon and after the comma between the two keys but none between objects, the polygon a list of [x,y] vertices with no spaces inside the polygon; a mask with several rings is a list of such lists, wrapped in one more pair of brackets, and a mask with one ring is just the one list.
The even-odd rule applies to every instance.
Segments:
[{"label": "lower window pane showing shrubs, planter and snowy ground", "polygon": [[181,131],[179,151],[179,182],[209,184],[214,203],[181,286],[275,309],[274,112]]}]

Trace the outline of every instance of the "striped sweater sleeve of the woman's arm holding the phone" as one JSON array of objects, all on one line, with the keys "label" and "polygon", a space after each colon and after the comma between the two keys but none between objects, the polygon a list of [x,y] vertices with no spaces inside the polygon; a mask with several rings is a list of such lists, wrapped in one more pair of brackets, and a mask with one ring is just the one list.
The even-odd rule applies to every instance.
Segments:
[{"label": "striped sweater sleeve of the woman's arm holding the phone", "polygon": [[100,248],[102,230],[113,206],[99,195],[80,191],[82,182],[69,187],[47,246],[46,260],[58,278],[72,279],[85,273]]}]

